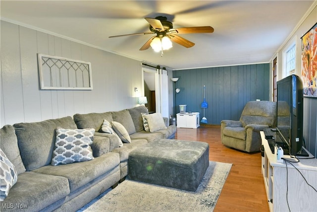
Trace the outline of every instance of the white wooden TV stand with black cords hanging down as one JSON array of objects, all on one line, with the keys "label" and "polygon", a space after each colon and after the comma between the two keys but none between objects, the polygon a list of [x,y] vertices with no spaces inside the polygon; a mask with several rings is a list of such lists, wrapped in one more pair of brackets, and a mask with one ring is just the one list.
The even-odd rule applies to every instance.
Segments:
[{"label": "white wooden TV stand with black cords hanging down", "polygon": [[[305,157],[298,156],[300,162],[292,164],[299,171],[288,162],[287,164],[285,161],[283,163],[276,162],[264,132],[262,131],[260,134],[264,145],[262,174],[269,210],[271,212],[316,212],[317,192],[305,182],[299,171],[307,182],[317,190],[317,158],[300,159]],[[307,149],[305,150],[309,153],[309,157],[314,157]],[[283,157],[297,161],[290,155]]]}]

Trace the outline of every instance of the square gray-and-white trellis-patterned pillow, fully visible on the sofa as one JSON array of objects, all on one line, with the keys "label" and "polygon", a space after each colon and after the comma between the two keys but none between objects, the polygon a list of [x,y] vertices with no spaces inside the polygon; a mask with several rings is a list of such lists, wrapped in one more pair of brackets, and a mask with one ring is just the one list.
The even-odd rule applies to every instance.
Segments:
[{"label": "square gray-and-white trellis-patterned pillow, fully visible on the sofa", "polygon": [[82,162],[94,159],[91,144],[95,129],[56,129],[52,165]]}]

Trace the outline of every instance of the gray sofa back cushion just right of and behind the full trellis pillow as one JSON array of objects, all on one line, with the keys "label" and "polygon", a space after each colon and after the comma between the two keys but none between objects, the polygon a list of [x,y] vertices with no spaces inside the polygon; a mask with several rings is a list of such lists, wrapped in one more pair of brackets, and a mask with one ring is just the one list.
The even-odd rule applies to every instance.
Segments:
[{"label": "gray sofa back cushion just right of and behind the full trellis pillow", "polygon": [[94,128],[96,132],[99,132],[100,126],[105,119],[109,122],[113,121],[110,112],[88,114],[77,113],[73,117],[78,129]]}]

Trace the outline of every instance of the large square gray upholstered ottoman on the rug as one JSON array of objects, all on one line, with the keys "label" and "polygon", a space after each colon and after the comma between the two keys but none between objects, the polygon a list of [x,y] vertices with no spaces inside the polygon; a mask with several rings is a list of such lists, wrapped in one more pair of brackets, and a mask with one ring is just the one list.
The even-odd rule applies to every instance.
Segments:
[{"label": "large square gray upholstered ottoman on the rug", "polygon": [[129,177],[189,191],[196,191],[209,166],[209,144],[162,139],[129,154]]}]

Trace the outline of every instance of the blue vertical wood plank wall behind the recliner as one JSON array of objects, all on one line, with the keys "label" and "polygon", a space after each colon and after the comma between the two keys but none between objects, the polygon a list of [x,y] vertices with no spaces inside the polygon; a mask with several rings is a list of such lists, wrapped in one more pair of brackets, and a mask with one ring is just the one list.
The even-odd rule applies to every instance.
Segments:
[{"label": "blue vertical wood plank wall behind the recliner", "polygon": [[173,77],[179,78],[175,86],[180,88],[175,93],[174,111],[179,113],[178,105],[187,105],[187,112],[200,112],[202,119],[206,85],[205,117],[212,125],[220,125],[225,119],[239,120],[248,101],[269,100],[269,64],[177,70]]}]

